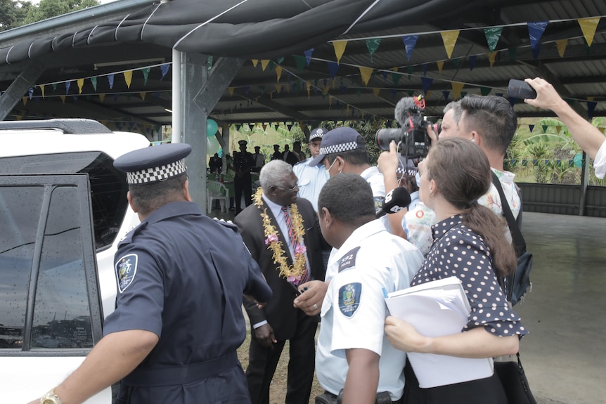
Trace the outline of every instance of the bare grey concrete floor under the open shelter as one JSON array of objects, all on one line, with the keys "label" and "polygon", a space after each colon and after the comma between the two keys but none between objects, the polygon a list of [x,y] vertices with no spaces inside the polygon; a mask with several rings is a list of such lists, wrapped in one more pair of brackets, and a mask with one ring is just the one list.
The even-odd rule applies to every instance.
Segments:
[{"label": "bare grey concrete floor under the open shelter", "polygon": [[[233,219],[233,212],[209,216]],[[524,212],[533,290],[515,311],[539,404],[606,403],[606,219]]]}]

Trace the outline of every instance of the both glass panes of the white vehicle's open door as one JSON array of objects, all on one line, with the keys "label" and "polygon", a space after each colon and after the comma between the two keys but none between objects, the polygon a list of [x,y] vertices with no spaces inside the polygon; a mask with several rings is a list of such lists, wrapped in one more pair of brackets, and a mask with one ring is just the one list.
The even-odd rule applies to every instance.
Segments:
[{"label": "both glass panes of the white vehicle's open door", "polygon": [[0,348],[23,347],[32,265],[39,271],[31,348],[93,345],[79,211],[75,186],[0,188],[0,226],[8,230],[0,232]]}]

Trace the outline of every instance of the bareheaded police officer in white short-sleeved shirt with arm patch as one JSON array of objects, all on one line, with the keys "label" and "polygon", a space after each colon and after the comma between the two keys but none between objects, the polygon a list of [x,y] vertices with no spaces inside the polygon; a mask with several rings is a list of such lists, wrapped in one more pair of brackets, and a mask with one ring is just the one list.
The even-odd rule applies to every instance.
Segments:
[{"label": "bareheaded police officer in white short-sleeved shirt with arm patch", "polygon": [[423,254],[375,219],[373,192],[357,174],[330,178],[318,209],[322,235],[338,250],[321,306],[316,375],[325,393],[316,404],[399,402],[406,353],[385,337],[384,294],[408,287]]}]

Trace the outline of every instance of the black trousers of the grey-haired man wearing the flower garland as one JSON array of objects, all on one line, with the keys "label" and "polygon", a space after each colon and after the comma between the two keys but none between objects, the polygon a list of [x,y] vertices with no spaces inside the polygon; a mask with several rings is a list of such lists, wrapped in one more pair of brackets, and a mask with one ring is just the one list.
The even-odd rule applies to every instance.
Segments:
[{"label": "black trousers of the grey-haired man wearing the flower garland", "polygon": [[[286,382],[285,404],[308,404],[311,383],[314,380],[316,356],[316,328],[318,323],[300,310],[297,332],[289,339],[290,360],[288,361],[288,379]],[[249,364],[246,370],[248,391],[252,404],[269,404],[269,385],[276,372],[276,366],[285,341],[273,344],[273,349],[261,346],[254,338],[250,341]]]}]

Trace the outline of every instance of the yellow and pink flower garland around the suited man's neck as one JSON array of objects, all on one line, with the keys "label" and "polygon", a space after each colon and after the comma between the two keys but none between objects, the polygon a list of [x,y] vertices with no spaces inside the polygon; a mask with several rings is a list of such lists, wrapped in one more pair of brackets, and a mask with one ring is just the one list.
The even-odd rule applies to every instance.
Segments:
[{"label": "yellow and pink flower garland around the suited man's neck", "polygon": [[290,205],[290,219],[292,219],[292,230],[295,231],[299,245],[295,249],[295,262],[292,266],[286,263],[286,256],[284,249],[282,248],[282,242],[278,239],[278,230],[271,224],[269,216],[267,216],[267,209],[263,208],[263,190],[258,188],[257,192],[252,195],[254,205],[259,209],[263,209],[261,218],[263,219],[263,230],[265,235],[265,245],[267,249],[273,252],[273,263],[278,263],[280,276],[288,280],[293,285],[299,285],[303,274],[305,273],[305,252],[307,249],[302,243],[302,237],[305,234],[305,228],[303,226],[303,218],[299,214],[296,204]]}]

